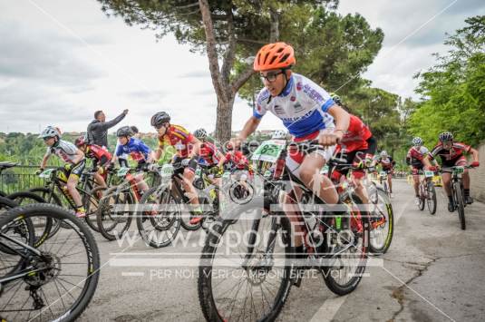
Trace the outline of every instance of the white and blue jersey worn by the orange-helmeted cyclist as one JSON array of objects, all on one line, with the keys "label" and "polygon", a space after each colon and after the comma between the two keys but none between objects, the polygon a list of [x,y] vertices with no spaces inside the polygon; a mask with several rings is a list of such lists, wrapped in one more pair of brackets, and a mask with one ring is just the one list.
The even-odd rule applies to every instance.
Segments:
[{"label": "white and blue jersey worn by the orange-helmeted cyclist", "polygon": [[335,127],[334,118],[328,113],[334,104],[323,88],[293,73],[285,90],[276,97],[271,97],[266,87],[259,92],[253,116],[261,119],[267,111],[272,112],[283,121],[290,134],[299,138]]}]

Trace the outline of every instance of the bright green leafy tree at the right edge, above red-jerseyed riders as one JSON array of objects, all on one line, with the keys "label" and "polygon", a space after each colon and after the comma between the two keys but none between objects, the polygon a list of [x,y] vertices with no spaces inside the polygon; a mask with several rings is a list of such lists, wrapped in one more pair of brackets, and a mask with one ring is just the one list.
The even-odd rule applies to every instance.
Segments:
[{"label": "bright green leafy tree at the right edge, above red-jerseyed riders", "polygon": [[470,144],[485,139],[485,15],[465,22],[446,40],[448,54],[436,54],[436,64],[416,75],[424,101],[412,113],[410,132],[425,141],[444,131]]}]

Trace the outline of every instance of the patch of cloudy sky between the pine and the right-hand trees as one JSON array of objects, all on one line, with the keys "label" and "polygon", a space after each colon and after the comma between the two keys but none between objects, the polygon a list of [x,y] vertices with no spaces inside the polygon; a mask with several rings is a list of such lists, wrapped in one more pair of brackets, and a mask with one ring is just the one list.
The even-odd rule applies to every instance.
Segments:
[{"label": "patch of cloudy sky between the pine and the right-hand trees", "polygon": [[448,50],[442,44],[445,33],[453,34],[469,16],[485,14],[485,5],[481,0],[341,0],[337,11],[358,12],[373,28],[383,29],[383,48],[364,77],[375,87],[417,99],[413,91],[419,81],[412,76],[435,63],[433,53]]}]

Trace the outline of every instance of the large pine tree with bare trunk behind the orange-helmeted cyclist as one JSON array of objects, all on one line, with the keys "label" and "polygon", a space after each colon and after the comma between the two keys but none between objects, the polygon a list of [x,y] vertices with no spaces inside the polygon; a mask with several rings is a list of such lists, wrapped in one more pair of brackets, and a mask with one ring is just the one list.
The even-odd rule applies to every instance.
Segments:
[{"label": "large pine tree with bare trunk behind the orange-helmeted cyclist", "polygon": [[[337,89],[361,81],[359,73],[372,63],[383,41],[382,31],[371,30],[362,16],[333,12],[336,0],[99,1],[108,15],[154,29],[158,37],[174,34],[192,51],[208,54],[220,141],[230,137],[234,99],[253,74],[251,57],[262,44],[294,44],[296,71]],[[253,79],[243,96],[251,100],[260,86]]]}]

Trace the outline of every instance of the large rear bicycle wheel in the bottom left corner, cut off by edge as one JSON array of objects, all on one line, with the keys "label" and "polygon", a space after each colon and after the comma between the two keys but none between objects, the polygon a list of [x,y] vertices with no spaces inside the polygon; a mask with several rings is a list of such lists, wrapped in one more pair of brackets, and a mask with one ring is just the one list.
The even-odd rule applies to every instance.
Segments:
[{"label": "large rear bicycle wheel in the bottom left corner, cut off by edge", "polygon": [[[31,204],[10,210],[0,217],[0,230],[8,230],[26,220],[35,222],[39,217],[62,221],[70,229],[61,229],[53,239],[45,240],[36,249],[38,253],[23,247],[23,252],[29,255],[26,258],[1,254],[0,279],[7,274],[22,277],[3,285],[0,315],[7,321],[73,321],[88,306],[96,290],[99,251],[91,231],[82,221],[52,204]],[[21,265],[5,274],[2,265],[7,258]]]}]

